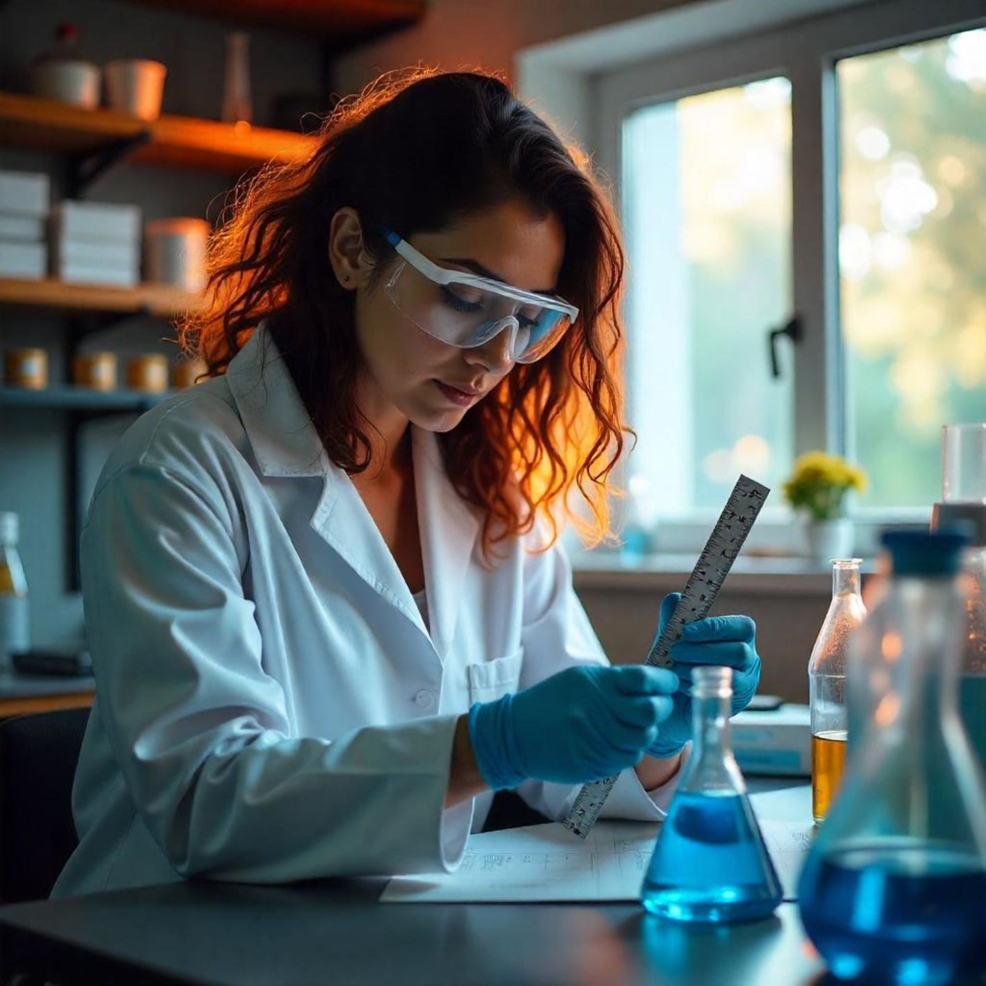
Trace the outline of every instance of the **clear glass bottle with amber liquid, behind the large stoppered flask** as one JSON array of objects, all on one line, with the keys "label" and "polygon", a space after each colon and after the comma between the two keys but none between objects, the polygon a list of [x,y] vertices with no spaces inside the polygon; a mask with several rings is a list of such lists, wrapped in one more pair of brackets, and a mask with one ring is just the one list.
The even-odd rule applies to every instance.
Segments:
[{"label": "clear glass bottle with amber liquid, behind the large stoppered flask", "polygon": [[811,715],[811,816],[821,822],[846,762],[846,644],[866,618],[860,558],[832,559],[832,601],[808,663]]}]

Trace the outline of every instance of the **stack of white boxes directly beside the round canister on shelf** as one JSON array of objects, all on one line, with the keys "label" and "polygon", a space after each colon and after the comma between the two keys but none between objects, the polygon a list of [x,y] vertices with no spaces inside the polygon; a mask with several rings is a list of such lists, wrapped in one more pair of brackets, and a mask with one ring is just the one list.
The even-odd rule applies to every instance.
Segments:
[{"label": "stack of white boxes directly beside the round canister on shelf", "polygon": [[51,267],[69,284],[132,287],[140,281],[140,209],[60,202],[51,210]]}]

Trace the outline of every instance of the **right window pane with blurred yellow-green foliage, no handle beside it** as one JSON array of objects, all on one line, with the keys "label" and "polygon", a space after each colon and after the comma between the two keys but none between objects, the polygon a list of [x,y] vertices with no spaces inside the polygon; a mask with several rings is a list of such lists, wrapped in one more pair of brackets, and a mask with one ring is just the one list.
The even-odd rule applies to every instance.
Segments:
[{"label": "right window pane with blurred yellow-green foliage, no handle beside it", "polygon": [[847,447],[874,509],[940,496],[940,427],[986,420],[986,30],[845,58]]}]

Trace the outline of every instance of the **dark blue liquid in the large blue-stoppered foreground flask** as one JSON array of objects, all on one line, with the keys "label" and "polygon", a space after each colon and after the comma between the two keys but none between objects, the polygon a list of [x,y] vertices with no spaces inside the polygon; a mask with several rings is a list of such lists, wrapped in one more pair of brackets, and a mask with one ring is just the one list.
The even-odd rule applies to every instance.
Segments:
[{"label": "dark blue liquid in the large blue-stoppered foreground flask", "polygon": [[883,840],[836,850],[811,870],[802,922],[836,976],[937,986],[983,971],[986,869],[976,856]]}]

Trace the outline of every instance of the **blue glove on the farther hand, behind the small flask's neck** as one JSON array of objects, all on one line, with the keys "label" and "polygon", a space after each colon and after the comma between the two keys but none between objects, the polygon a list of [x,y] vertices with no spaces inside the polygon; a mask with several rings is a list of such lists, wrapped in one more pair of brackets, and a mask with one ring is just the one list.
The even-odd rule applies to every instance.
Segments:
[{"label": "blue glove on the farther hand, behind the small flask's neck", "polygon": [[[681,599],[670,593],[661,600],[658,637]],[[681,639],[671,648],[681,687],[674,694],[674,709],[661,733],[649,747],[651,756],[673,756],[691,739],[691,672],[697,665],[733,669],[733,715],[744,709],[760,683],[760,656],[756,653],[756,624],[748,616],[709,616],[686,623]]]}]

